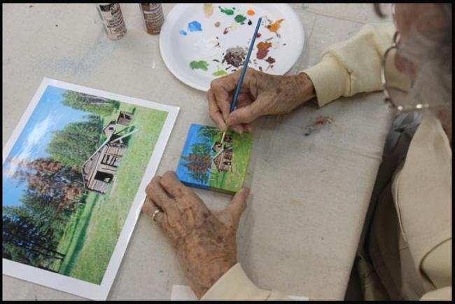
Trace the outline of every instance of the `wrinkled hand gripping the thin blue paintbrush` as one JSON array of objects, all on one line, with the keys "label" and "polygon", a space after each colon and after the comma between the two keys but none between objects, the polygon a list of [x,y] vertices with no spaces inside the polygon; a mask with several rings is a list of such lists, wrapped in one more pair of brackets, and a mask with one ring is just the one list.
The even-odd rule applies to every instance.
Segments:
[{"label": "wrinkled hand gripping the thin blue paintbrush", "polygon": [[307,74],[274,76],[247,68],[235,110],[230,113],[240,74],[241,69],[215,79],[207,92],[210,117],[223,132],[250,132],[249,123],[256,118],[289,113],[316,96]]}]

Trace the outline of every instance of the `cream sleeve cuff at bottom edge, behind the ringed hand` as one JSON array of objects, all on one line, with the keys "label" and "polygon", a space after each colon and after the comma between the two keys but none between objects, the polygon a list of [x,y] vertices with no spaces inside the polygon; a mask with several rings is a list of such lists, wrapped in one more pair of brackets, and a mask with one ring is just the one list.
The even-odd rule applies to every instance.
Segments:
[{"label": "cream sleeve cuff at bottom edge, behind the ringed hand", "polygon": [[264,290],[255,286],[246,276],[239,263],[235,264],[223,277],[211,286],[201,300],[292,300],[274,290]]}]

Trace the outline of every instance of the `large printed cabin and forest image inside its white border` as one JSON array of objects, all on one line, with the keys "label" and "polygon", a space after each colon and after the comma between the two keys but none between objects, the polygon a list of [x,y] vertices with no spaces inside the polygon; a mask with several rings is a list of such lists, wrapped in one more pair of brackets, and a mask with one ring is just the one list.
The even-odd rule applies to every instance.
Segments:
[{"label": "large printed cabin and forest image inside its white border", "polygon": [[101,284],[167,115],[48,85],[3,158],[3,258]]}]

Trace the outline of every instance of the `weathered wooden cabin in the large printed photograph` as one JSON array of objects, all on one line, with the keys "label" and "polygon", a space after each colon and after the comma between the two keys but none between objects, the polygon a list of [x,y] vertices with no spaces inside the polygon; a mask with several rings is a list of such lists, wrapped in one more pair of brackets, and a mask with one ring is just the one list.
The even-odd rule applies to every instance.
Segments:
[{"label": "weathered wooden cabin in the large printed photograph", "polygon": [[85,189],[97,191],[102,194],[106,192],[109,183],[113,181],[114,174],[120,163],[120,158],[127,149],[123,139],[139,131],[139,129],[123,136],[118,136],[118,133],[122,131],[111,134],[82,165],[82,177]]}]

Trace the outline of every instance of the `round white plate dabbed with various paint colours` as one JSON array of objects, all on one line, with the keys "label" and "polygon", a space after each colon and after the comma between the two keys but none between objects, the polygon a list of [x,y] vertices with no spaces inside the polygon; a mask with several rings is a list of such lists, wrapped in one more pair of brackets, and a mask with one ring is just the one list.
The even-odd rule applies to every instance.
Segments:
[{"label": "round white plate dabbed with various paint colours", "polygon": [[283,75],[302,53],[304,30],[288,4],[176,4],[160,34],[169,71],[197,90],[243,66],[262,17],[248,67]]}]

